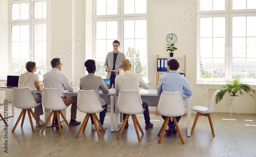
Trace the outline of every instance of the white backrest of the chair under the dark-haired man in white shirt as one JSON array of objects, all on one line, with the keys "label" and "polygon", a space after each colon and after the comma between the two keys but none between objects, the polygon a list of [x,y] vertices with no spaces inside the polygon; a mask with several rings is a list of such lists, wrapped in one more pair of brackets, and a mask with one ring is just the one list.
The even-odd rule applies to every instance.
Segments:
[{"label": "white backrest of the chair under the dark-haired man in white shirt", "polygon": [[46,109],[50,110],[68,108],[56,88],[42,88],[42,104],[44,104]]}]

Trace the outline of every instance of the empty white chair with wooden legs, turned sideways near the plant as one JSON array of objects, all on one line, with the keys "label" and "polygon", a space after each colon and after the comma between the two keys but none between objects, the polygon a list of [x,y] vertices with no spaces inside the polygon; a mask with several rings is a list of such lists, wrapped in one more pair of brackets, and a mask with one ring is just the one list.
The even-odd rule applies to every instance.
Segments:
[{"label": "empty white chair with wooden legs, turned sideways near the plant", "polygon": [[210,123],[210,128],[211,128],[211,133],[212,136],[215,137],[215,133],[214,133],[214,125],[212,124],[212,120],[211,120],[211,115],[210,113],[212,113],[212,111],[214,111],[214,100],[216,95],[218,94],[218,92],[220,92],[220,90],[216,90],[214,95],[212,95],[210,102],[207,106],[193,106],[191,107],[191,110],[194,110],[197,112],[193,127],[192,127],[192,131],[191,131],[191,135],[194,133],[195,127],[197,125],[197,120],[199,116],[206,116],[208,117],[209,123]]}]

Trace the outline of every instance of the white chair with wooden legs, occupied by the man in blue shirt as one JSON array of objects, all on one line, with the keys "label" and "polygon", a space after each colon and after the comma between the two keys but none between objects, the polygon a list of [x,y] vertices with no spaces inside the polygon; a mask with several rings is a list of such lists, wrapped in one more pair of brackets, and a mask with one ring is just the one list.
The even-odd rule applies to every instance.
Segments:
[{"label": "white chair with wooden legs, occupied by the man in blue shirt", "polygon": [[159,115],[166,117],[160,131],[158,132],[158,136],[160,136],[161,134],[158,143],[162,142],[163,135],[168,125],[168,122],[170,118],[173,118],[174,124],[180,136],[180,140],[182,144],[185,144],[182,134],[180,132],[179,125],[176,120],[176,117],[179,117],[185,114],[185,107],[184,107],[184,102],[183,102],[181,93],[180,92],[162,92],[158,102],[158,106],[157,106],[157,113]]}]

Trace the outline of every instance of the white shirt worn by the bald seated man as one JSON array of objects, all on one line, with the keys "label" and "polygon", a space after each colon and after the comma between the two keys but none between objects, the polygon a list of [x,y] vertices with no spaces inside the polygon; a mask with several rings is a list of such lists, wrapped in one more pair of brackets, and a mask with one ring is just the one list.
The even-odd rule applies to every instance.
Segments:
[{"label": "white shirt worn by the bald seated man", "polygon": [[[115,80],[115,89],[116,93],[119,93],[120,90],[125,91],[137,91],[140,96],[140,87],[141,85],[144,89],[149,89],[150,86],[142,79],[139,74],[133,73],[131,71],[124,71],[123,74],[116,77]],[[142,104],[142,100],[140,97]]]}]

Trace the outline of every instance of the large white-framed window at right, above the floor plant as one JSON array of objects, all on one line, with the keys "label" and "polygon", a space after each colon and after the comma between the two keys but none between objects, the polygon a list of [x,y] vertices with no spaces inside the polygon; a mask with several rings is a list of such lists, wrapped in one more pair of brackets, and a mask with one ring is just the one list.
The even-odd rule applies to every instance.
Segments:
[{"label": "large white-framed window at right, above the floor plant", "polygon": [[256,80],[256,3],[200,1],[198,81]]}]

